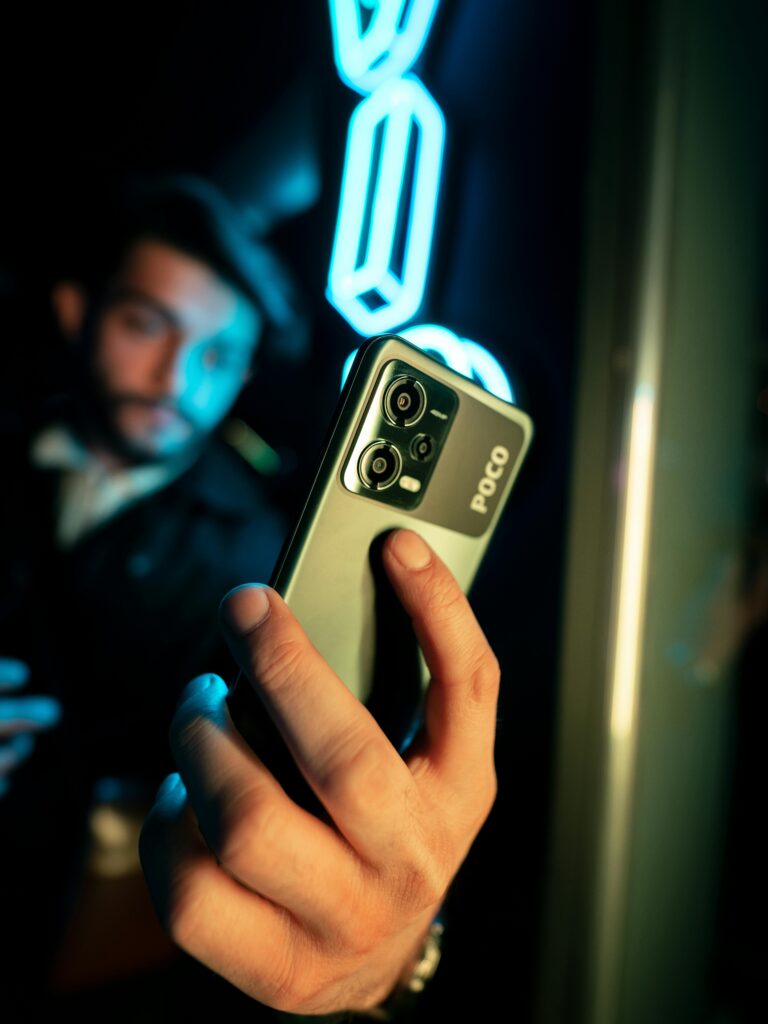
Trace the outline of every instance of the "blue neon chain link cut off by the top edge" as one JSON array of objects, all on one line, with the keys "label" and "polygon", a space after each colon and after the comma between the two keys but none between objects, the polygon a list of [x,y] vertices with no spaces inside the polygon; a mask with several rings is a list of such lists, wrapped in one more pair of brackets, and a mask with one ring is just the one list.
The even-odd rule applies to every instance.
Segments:
[{"label": "blue neon chain link cut off by the top edge", "polygon": [[330,0],[341,80],[367,93],[409,71],[424,47],[437,4],[438,0]]}]

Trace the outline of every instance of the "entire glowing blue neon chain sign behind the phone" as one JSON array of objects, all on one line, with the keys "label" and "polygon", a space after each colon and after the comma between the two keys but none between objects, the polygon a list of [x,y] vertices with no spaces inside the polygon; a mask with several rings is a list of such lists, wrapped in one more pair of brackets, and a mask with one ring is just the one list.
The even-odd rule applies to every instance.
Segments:
[{"label": "entire glowing blue neon chain sign behind the phone", "polygon": [[366,95],[349,122],[327,296],[358,334],[399,329],[513,401],[501,365],[477,342],[437,325],[402,329],[424,300],[442,167],[442,112],[411,73],[437,3],[330,0],[339,76]]}]

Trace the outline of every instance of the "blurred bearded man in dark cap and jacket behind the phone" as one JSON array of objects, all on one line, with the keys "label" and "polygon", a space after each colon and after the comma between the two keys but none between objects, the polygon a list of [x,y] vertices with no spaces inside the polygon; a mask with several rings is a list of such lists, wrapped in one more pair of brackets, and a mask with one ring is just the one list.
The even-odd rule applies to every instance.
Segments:
[{"label": "blurred bearded man in dark cap and jacket behind the phone", "polygon": [[182,684],[229,671],[221,594],[267,579],[283,535],[215,436],[273,304],[258,247],[193,179],[134,190],[109,226],[52,294],[71,386],[2,438],[0,906],[22,1001],[168,955],[139,822]]}]

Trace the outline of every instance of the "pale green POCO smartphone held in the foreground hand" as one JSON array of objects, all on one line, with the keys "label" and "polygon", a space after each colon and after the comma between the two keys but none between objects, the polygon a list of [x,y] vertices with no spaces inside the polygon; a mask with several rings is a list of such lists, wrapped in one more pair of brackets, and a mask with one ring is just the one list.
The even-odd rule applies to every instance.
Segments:
[{"label": "pale green POCO smartphone held in the foreground hand", "polygon": [[[270,584],[398,749],[427,673],[380,567],[381,543],[397,527],[416,530],[468,592],[531,435],[517,407],[395,335],[366,342],[349,371]],[[230,694],[236,724],[246,738],[256,728],[263,746],[264,725],[239,690],[252,692]]]}]

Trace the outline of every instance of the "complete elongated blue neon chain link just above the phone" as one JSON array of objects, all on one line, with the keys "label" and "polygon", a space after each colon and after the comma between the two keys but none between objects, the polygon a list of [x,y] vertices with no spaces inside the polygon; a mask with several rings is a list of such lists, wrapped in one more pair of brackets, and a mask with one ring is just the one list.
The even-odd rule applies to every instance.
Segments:
[{"label": "complete elongated blue neon chain link just above the phone", "polygon": [[[376,180],[377,126],[383,127]],[[418,131],[412,195],[403,195],[411,132]],[[432,248],[437,194],[445,138],[442,114],[422,83],[413,76],[394,79],[356,108],[349,123],[339,219],[328,298],[361,335],[390,331],[419,310]],[[368,245],[357,265],[366,211],[373,189]],[[402,204],[410,200],[401,274],[392,268]],[[376,308],[364,296],[376,293]]]}]

